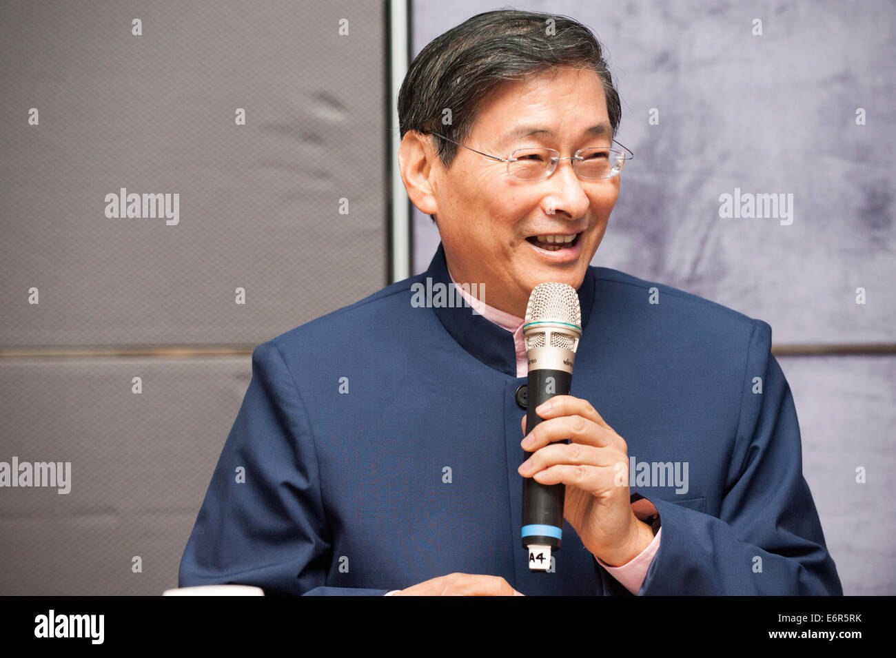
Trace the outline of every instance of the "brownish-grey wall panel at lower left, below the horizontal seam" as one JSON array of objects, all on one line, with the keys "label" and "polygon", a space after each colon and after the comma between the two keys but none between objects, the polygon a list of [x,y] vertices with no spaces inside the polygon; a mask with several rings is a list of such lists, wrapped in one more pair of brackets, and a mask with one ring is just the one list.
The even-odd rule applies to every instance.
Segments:
[{"label": "brownish-grey wall panel at lower left, below the horizontal seam", "polygon": [[0,461],[71,462],[67,494],[0,491],[0,594],[176,587],[251,372],[248,358],[0,361]]}]

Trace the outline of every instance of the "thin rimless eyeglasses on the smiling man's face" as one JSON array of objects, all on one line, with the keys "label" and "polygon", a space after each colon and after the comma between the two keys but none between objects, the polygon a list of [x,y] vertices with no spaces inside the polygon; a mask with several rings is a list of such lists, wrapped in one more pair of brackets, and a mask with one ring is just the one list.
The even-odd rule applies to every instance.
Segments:
[{"label": "thin rimless eyeglasses on the smiling man's face", "polygon": [[496,156],[483,153],[481,150],[470,149],[469,146],[465,146],[459,141],[451,140],[438,132],[432,132],[432,134],[436,137],[441,137],[445,141],[450,141],[452,144],[462,146],[464,149],[478,153],[480,156],[506,162],[507,173],[512,175],[513,178],[523,181],[547,178],[547,176],[554,173],[560,160],[572,160],[573,170],[580,178],[612,178],[622,171],[625,160],[630,160],[634,157],[632,151],[626,149],[618,141],[613,140],[625,149],[628,153],[627,156],[625,152],[612,147],[590,147],[577,150],[568,158],[561,158],[560,151],[556,149],[517,149],[510,154],[509,158],[497,158]]}]

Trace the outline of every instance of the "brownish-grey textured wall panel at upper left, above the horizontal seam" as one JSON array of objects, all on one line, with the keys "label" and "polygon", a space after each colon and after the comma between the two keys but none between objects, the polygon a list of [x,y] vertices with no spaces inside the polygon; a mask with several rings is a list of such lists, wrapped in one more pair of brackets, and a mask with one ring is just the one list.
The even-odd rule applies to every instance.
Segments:
[{"label": "brownish-grey textured wall panel at upper left, above the horizontal seam", "polygon": [[[257,344],[385,285],[384,29],[344,0],[0,5],[0,347]],[[177,226],[107,218],[123,187],[178,193]]]}]

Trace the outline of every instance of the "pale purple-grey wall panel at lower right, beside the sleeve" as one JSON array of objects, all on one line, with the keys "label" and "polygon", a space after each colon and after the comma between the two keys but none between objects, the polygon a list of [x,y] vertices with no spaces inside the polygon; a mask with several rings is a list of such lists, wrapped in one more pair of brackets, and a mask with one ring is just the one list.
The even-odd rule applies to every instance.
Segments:
[{"label": "pale purple-grey wall panel at lower right, beside the sleeve", "polygon": [[[797,405],[803,473],[844,594],[896,594],[896,356],[780,357]],[[857,468],[865,483],[857,482]]]}]

